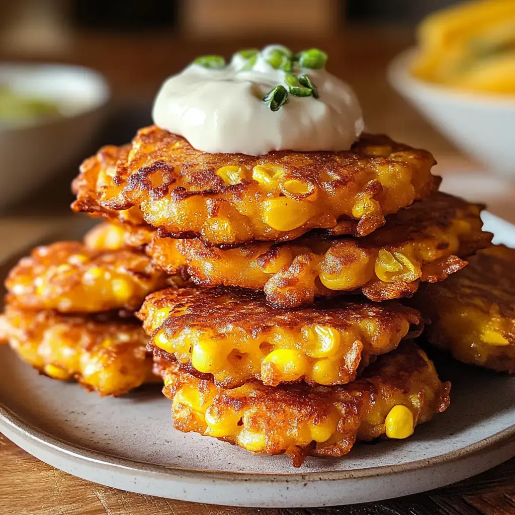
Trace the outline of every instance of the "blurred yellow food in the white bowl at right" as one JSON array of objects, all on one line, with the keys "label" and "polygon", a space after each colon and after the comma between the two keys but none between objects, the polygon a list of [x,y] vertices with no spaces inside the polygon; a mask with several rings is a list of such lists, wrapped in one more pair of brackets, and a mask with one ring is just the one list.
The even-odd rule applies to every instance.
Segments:
[{"label": "blurred yellow food in the white bowl at right", "polygon": [[515,2],[465,2],[435,12],[418,27],[413,74],[481,93],[515,93]]}]

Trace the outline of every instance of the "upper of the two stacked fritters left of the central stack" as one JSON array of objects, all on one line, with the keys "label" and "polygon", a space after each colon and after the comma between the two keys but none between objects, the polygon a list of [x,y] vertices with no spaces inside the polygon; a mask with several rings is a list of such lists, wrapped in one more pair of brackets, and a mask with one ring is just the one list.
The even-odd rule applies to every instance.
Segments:
[{"label": "upper of the two stacked fritters left of the central stack", "polygon": [[22,258],[9,272],[6,287],[12,302],[23,307],[95,313],[137,310],[147,294],[170,281],[143,252],[58,242]]}]

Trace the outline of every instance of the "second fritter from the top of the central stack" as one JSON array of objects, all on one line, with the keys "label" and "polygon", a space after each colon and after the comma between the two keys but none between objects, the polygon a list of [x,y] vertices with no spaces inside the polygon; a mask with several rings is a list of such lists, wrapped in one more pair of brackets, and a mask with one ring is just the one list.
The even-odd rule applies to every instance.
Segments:
[{"label": "second fritter from the top of the central stack", "polygon": [[463,258],[489,245],[491,234],[481,231],[481,209],[435,193],[388,216],[386,225],[362,238],[312,231],[293,242],[220,249],[197,238],[155,236],[146,251],[168,273],[186,264],[199,285],[264,289],[278,306],[359,290],[382,301],[412,295],[421,281],[442,281],[467,264]]}]

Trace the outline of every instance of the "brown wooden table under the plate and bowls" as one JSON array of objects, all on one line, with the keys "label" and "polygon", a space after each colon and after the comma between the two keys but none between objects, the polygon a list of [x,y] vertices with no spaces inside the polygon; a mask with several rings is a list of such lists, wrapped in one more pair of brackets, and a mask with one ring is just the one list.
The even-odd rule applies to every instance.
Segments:
[{"label": "brown wooden table under the plate and bowls", "polygon": [[[118,113],[148,110],[149,102],[162,80],[193,57],[202,53],[230,55],[237,48],[263,46],[269,39],[239,41],[198,41],[173,39],[165,35],[124,38],[77,36],[63,48],[61,56],[72,63],[97,68],[113,88],[113,105]],[[367,128],[387,132],[393,138],[434,152],[442,175],[479,169],[434,131],[413,109],[388,87],[384,78],[386,63],[410,43],[402,31],[349,32],[333,39],[306,38],[284,43],[293,48],[320,46],[329,50],[329,68],[352,83],[361,100]],[[2,56],[0,58],[19,58]],[[144,116],[146,119],[146,115]],[[129,119],[131,119],[129,117]],[[119,134],[131,124],[118,122],[108,131],[104,143],[121,143]],[[136,124],[131,130],[135,130]],[[92,149],[93,150],[93,149]],[[74,171],[64,170],[61,180],[42,188],[30,201],[20,204],[0,218],[0,254],[6,255],[35,241],[50,226],[62,223],[71,200],[68,183]],[[58,187],[56,187],[56,184]],[[494,212],[515,221],[511,198],[515,191],[506,185],[506,201],[494,202]],[[42,218],[42,215],[46,217]],[[37,218],[35,218],[37,216]],[[2,259],[2,255],[0,255]],[[515,514],[515,459],[485,474],[432,492],[380,503],[338,508],[247,509],[226,508],[169,501],[115,490],[58,471],[31,457],[0,435],[0,515],[173,515],[203,513],[277,514],[317,513],[349,515],[431,515],[445,513],[472,515]]]}]

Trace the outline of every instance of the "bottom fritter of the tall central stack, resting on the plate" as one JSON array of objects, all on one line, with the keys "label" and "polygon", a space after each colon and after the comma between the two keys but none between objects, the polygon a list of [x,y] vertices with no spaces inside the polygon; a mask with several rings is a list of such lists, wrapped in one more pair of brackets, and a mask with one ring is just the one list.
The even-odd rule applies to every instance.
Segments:
[{"label": "bottom fritter of the tall central stack, resting on the plate", "polygon": [[254,454],[286,452],[299,467],[306,455],[342,456],[355,441],[406,438],[449,405],[450,383],[411,342],[380,356],[344,386],[278,388],[259,382],[232,390],[157,363],[173,402],[174,427],[239,445]]}]

